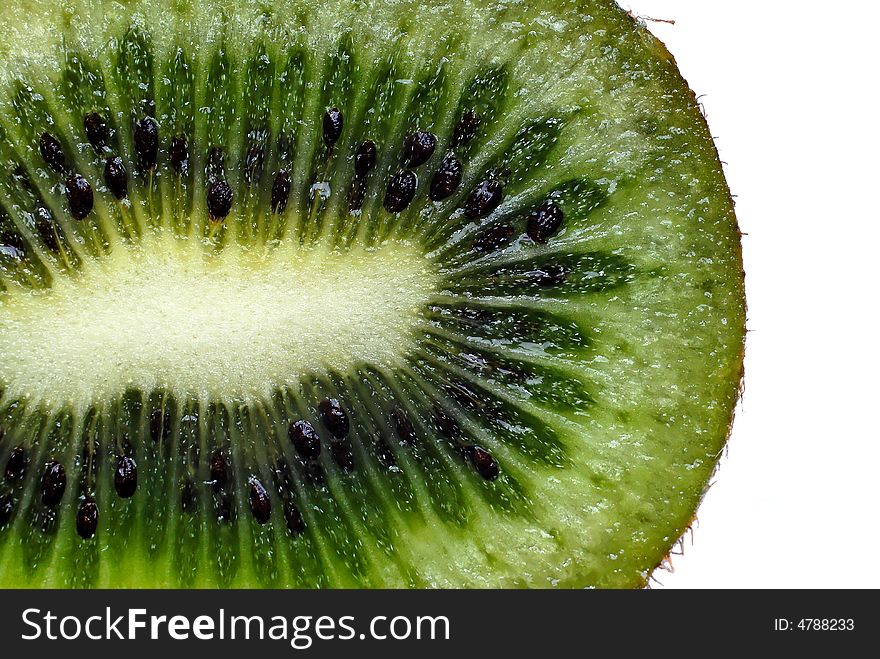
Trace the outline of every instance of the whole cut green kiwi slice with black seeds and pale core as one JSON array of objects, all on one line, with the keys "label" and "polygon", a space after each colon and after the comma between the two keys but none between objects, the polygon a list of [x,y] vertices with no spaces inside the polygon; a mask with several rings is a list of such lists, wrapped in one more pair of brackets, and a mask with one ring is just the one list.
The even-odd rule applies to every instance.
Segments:
[{"label": "whole cut green kiwi slice with black seeds and pale core", "polygon": [[745,311],[716,150],[643,26],[0,18],[0,585],[646,583]]}]

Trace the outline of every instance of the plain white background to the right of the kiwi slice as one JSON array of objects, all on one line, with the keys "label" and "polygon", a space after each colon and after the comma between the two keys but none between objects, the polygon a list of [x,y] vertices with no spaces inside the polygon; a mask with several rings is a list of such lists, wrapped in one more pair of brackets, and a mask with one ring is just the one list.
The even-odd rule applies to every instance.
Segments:
[{"label": "plain white background to the right of the kiwi slice", "polygon": [[654,587],[880,587],[880,2],[619,1],[675,20],[748,234],[745,395]]}]

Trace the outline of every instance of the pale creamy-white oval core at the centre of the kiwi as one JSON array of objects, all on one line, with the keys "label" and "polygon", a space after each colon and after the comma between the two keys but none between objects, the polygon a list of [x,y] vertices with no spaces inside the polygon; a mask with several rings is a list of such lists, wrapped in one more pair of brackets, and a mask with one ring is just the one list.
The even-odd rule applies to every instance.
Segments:
[{"label": "pale creamy-white oval core at the centre of the kiwi", "polygon": [[345,253],[289,241],[220,253],[167,234],[0,300],[0,381],[47,406],[127,387],[248,400],[309,372],[391,366],[436,291],[406,243]]}]

